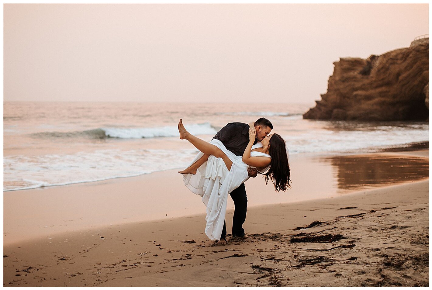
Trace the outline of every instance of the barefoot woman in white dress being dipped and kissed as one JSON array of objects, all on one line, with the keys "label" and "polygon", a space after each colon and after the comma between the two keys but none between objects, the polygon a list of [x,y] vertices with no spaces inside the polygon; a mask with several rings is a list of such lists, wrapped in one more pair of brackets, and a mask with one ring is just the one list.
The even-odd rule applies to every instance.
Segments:
[{"label": "barefoot woman in white dress being dipped and kissed", "polygon": [[[189,173],[188,169],[181,173],[187,173],[183,175],[184,184],[199,194],[207,206],[205,233],[211,240],[220,239],[228,194],[248,180],[248,166],[263,174],[267,171],[266,184],[270,179],[276,191],[286,191],[290,187],[286,144],[278,134],[267,135],[261,143],[253,145],[255,133],[250,128],[248,146],[243,156],[236,156],[219,140],[213,139],[208,143],[187,132],[181,119],[178,131],[180,139],[188,140],[200,150],[188,167],[197,168],[196,174]],[[199,167],[194,166],[204,154],[210,155],[207,161]]]}]

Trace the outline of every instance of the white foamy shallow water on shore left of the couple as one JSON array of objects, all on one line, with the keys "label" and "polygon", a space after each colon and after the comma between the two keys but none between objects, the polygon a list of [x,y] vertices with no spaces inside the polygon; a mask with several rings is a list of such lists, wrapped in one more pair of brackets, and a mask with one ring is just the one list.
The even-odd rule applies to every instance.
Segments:
[{"label": "white foamy shallow water on shore left of the couple", "polygon": [[95,182],[187,166],[197,150],[97,150],[65,155],[5,156],[3,191]]}]

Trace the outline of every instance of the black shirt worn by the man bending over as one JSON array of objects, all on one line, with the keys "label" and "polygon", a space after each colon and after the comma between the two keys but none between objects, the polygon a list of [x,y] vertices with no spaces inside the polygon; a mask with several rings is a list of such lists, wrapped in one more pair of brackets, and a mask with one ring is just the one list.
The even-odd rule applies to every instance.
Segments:
[{"label": "black shirt worn by the man bending over", "polygon": [[[226,149],[235,155],[243,156],[249,143],[249,124],[228,123],[219,130],[213,139],[217,139],[225,145]],[[254,144],[257,143],[255,138]]]}]

